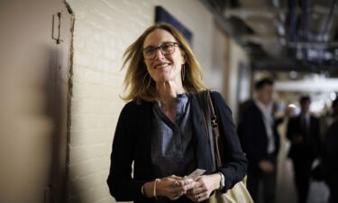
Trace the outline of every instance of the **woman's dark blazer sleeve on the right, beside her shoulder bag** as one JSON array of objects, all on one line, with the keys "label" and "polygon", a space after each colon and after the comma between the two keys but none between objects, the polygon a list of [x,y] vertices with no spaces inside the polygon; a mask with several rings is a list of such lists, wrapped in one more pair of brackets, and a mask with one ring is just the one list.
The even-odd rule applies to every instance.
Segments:
[{"label": "woman's dark blazer sleeve on the right, beside her shoulder bag", "polygon": [[224,98],[218,92],[212,92],[211,97],[223,143],[225,164],[224,168],[219,171],[222,171],[225,177],[225,187],[223,189],[223,192],[225,192],[243,179],[247,172],[247,160],[244,152],[242,152],[229,106],[226,105]]}]

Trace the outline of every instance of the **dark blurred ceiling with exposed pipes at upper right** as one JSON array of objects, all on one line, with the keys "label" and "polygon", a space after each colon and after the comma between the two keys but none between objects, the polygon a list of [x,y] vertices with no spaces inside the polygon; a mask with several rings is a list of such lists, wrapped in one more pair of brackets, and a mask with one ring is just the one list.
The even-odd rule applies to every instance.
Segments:
[{"label": "dark blurred ceiling with exposed pipes at upper right", "polygon": [[338,76],[337,0],[203,0],[252,68]]}]

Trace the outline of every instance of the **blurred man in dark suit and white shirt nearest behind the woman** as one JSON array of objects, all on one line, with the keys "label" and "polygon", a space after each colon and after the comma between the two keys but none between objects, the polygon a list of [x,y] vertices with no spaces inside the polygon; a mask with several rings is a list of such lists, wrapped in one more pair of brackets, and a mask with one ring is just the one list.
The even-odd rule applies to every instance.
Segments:
[{"label": "blurred man in dark suit and white shirt nearest behind the woman", "polygon": [[243,151],[249,161],[247,187],[255,203],[274,203],[277,183],[277,155],[281,123],[273,117],[273,81],[263,78],[255,84],[255,97],[246,102],[238,126]]}]

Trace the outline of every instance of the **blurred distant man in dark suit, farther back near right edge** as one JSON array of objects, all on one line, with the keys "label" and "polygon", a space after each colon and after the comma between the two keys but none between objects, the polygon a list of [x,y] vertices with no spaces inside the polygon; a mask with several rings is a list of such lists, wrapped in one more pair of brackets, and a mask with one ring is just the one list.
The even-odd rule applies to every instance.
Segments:
[{"label": "blurred distant man in dark suit, farther back near right edge", "polygon": [[309,113],[310,97],[300,97],[301,112],[288,121],[287,137],[291,142],[288,157],[293,161],[298,203],[306,203],[311,167],[319,155],[319,119]]}]

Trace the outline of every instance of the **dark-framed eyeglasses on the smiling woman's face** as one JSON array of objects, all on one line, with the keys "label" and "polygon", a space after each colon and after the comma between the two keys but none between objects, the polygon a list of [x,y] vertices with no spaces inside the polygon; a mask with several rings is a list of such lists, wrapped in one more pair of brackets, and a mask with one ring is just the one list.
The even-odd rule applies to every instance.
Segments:
[{"label": "dark-framed eyeglasses on the smiling woman's face", "polygon": [[175,52],[175,47],[179,46],[177,42],[164,42],[158,47],[146,47],[143,49],[144,60],[153,60],[156,57],[156,50],[160,49],[163,55],[170,55]]}]

